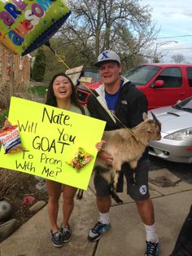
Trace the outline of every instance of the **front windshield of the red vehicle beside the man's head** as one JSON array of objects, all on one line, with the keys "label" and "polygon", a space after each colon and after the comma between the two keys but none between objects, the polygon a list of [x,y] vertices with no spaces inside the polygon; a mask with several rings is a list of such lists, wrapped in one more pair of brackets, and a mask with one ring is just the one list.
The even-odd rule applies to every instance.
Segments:
[{"label": "front windshield of the red vehicle beside the man's head", "polygon": [[137,86],[143,86],[149,82],[160,69],[160,67],[152,65],[139,65],[123,73],[123,77],[129,79],[130,82]]}]

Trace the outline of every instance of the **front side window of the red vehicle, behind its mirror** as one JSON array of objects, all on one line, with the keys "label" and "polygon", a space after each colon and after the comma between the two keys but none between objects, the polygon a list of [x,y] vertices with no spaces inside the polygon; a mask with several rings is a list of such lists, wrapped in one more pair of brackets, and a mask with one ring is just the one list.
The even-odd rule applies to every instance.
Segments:
[{"label": "front side window of the red vehicle, behind its mirror", "polygon": [[180,68],[165,68],[156,80],[164,81],[164,88],[181,87],[182,76]]}]

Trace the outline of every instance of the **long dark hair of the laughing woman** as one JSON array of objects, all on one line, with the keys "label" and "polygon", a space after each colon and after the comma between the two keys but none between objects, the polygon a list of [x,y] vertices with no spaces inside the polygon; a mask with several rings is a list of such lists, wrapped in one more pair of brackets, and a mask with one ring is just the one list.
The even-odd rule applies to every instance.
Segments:
[{"label": "long dark hair of the laughing woman", "polygon": [[71,83],[71,86],[72,86],[72,95],[71,95],[72,104],[74,104],[77,108],[80,108],[82,114],[85,114],[85,109],[81,106],[78,99],[76,98],[76,88],[73,85],[72,79],[70,77],[68,77],[68,75],[66,75],[66,73],[57,73],[50,80],[50,84],[48,86],[48,90],[47,90],[47,94],[46,94],[46,105],[57,107],[57,100],[56,100],[54,90],[53,90],[53,83],[55,81],[55,78],[59,77],[59,76],[66,77],[68,79],[68,81]]}]

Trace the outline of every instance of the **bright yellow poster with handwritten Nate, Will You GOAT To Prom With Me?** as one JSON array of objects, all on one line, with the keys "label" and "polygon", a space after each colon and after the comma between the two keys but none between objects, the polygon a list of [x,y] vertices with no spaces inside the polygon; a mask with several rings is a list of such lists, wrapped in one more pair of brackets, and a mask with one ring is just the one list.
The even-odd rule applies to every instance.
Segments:
[{"label": "bright yellow poster with handwritten Nate, Will You GOAT To Prom With Me?", "polygon": [[[87,189],[105,121],[15,97],[9,121],[19,127],[25,150],[5,154],[1,148],[1,167]],[[80,170],[68,165],[78,148],[92,157]]]}]

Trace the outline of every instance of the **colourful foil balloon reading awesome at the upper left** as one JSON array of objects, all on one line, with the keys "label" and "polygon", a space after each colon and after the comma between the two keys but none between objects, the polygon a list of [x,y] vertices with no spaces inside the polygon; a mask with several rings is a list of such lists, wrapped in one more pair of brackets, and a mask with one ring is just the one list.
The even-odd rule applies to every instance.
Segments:
[{"label": "colourful foil balloon reading awesome at the upper left", "polygon": [[0,0],[0,43],[26,55],[47,42],[70,14],[63,0]]}]

